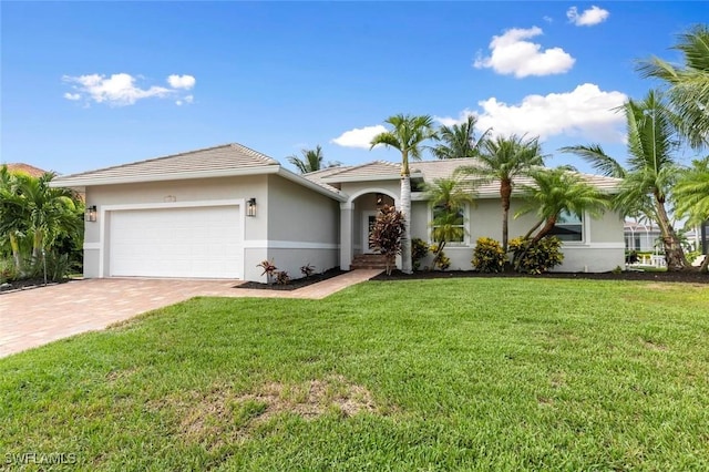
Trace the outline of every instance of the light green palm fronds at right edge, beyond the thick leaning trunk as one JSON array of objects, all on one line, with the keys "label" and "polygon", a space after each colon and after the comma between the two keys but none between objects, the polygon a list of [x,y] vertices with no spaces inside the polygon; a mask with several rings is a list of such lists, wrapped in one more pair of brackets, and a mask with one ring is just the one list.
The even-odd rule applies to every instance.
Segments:
[{"label": "light green palm fronds at right edge, beyond the thick leaning trunk", "polygon": [[[709,220],[709,156],[692,162],[685,170],[672,191],[675,214],[687,217],[687,225],[701,226]],[[705,257],[700,270],[709,268],[709,255]]]}]

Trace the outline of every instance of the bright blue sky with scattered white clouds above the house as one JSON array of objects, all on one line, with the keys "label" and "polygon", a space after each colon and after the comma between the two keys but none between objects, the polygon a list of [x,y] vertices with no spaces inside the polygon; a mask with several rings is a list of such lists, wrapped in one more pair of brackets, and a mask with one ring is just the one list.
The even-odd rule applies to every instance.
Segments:
[{"label": "bright blue sky with scattered white clouds above the house", "polygon": [[587,171],[556,150],[624,158],[609,110],[657,86],[635,61],[678,61],[677,34],[709,22],[706,2],[678,1],[2,1],[0,14],[0,162],[61,174],[230,142],[284,164],[318,144],[326,161],[398,161],[367,146],[395,113],[474,113]]}]

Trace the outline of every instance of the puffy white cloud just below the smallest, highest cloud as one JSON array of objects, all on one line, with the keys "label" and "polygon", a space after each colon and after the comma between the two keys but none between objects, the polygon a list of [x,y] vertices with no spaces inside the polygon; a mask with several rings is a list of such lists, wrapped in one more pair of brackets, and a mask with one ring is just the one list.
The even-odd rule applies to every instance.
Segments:
[{"label": "puffy white cloud just below the smallest, highest cloud", "polygon": [[514,74],[517,79],[527,75],[551,75],[567,72],[576,61],[562,48],[542,50],[542,45],[525,41],[542,34],[538,27],[511,29],[490,42],[490,57],[479,53],[473,65],[492,69],[499,74]]}]

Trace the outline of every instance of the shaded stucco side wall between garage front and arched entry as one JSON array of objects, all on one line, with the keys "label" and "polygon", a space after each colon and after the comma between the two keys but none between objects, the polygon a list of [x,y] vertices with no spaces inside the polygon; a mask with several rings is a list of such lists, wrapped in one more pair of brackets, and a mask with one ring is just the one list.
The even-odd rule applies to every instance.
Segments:
[{"label": "shaded stucco side wall between garage front and arched entry", "polygon": [[[339,267],[338,202],[278,175],[269,175],[268,212],[261,214],[259,208],[260,215],[268,220],[268,240],[260,244],[267,248],[268,259],[279,270],[288,271],[290,278],[302,277],[300,267],[306,264],[315,266],[318,273]],[[260,260],[254,265],[258,263]],[[260,277],[261,270],[256,270]]]}]

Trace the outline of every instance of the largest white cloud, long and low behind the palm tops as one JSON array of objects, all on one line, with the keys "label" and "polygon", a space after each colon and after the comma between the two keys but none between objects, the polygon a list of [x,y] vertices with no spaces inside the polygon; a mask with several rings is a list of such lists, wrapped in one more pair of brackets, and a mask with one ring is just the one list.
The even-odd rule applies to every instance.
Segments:
[{"label": "largest white cloud, long and low behind the palm tops", "polygon": [[[620,92],[604,92],[598,85],[585,83],[572,92],[527,95],[518,104],[506,104],[490,98],[479,102],[480,112],[465,110],[461,113],[475,114],[475,127],[492,129],[492,135],[527,134],[546,140],[556,135],[579,136],[606,143],[624,140],[623,113],[614,109],[623,105],[627,96]],[[438,119],[441,123],[444,120]],[[461,122],[462,120],[454,120]]]}]

